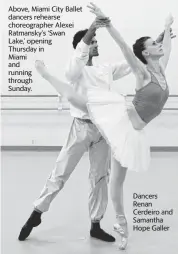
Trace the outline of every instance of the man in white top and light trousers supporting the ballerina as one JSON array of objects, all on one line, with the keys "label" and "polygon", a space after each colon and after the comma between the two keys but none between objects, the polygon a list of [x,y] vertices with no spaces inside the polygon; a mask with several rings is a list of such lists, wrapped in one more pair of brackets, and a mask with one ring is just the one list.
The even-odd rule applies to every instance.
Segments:
[{"label": "man in white top and light trousers supporting the ballerina", "polygon": [[[66,76],[74,85],[78,94],[85,94],[90,86],[110,88],[113,80],[130,73],[126,63],[115,65],[93,66],[93,57],[98,56],[98,45],[95,38],[96,29],[107,24],[108,20],[95,20],[88,30],[79,31],[73,39],[75,53],[70,61]],[[63,188],[84,152],[89,150],[90,158],[90,193],[89,213],[91,218],[91,237],[113,242],[115,238],[100,228],[107,202],[107,179],[110,160],[110,151],[96,126],[84,111],[71,106],[71,115],[74,121],[63,146],[54,170],[47,179],[40,197],[34,202],[34,211],[23,226],[19,240],[24,241],[33,227],[41,223],[41,215],[48,211],[50,203]]]}]

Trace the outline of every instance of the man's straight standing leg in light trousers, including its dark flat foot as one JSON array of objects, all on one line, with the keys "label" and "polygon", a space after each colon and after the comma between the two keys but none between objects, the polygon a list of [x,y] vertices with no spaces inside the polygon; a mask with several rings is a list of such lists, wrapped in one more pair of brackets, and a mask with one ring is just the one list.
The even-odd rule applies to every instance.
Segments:
[{"label": "man's straight standing leg in light trousers, including its dark flat foot", "polygon": [[[97,129],[95,131],[98,132]],[[89,158],[89,212],[91,217],[90,235],[104,241],[114,242],[115,238],[100,228],[100,220],[103,218],[108,204],[107,185],[109,180],[110,148],[99,132],[98,140],[96,142],[92,142],[89,148]]]}]

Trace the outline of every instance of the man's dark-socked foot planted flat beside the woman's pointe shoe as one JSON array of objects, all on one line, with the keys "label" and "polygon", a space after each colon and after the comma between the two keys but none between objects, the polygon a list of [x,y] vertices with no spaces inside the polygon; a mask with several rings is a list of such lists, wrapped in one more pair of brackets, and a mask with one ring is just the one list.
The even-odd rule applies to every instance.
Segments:
[{"label": "man's dark-socked foot planted flat beside the woman's pointe shoe", "polygon": [[90,236],[105,242],[115,242],[115,238],[112,235],[100,228],[99,222],[91,223]]}]

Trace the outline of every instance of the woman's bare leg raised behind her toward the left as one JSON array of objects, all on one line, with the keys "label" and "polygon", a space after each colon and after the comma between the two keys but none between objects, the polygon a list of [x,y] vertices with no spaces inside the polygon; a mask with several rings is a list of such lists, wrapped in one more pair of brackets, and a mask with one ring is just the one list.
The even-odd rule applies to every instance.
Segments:
[{"label": "woman's bare leg raised behind her toward the left", "polygon": [[61,94],[61,96],[65,97],[75,107],[88,112],[86,106],[87,97],[80,96],[68,83],[64,83],[54,76],[50,75],[42,61],[36,61],[35,67],[41,76],[46,79],[57,90],[57,92]]}]

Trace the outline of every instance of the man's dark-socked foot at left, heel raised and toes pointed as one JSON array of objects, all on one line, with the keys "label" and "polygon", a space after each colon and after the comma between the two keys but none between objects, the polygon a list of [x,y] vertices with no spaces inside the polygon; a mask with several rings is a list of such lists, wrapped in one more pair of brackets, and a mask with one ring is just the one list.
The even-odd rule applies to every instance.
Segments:
[{"label": "man's dark-socked foot at left, heel raised and toes pointed", "polygon": [[41,223],[41,214],[40,212],[33,211],[30,215],[29,219],[22,227],[20,234],[19,234],[19,241],[24,241],[31,233],[33,227],[37,227]]}]

